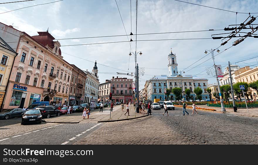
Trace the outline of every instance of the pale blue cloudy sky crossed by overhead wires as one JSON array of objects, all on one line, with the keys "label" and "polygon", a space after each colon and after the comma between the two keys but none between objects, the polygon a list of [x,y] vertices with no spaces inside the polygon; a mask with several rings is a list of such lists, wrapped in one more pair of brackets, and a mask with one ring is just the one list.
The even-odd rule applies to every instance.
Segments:
[{"label": "pale blue cloudy sky crossed by overhead wires", "polygon": [[[1,0],[0,3],[13,0]],[[139,88],[144,88],[145,81],[155,75],[169,74],[168,55],[171,51],[176,54],[178,70],[184,71],[183,75],[193,75],[193,78],[207,78],[209,84],[214,84],[216,79],[206,73],[206,68],[213,66],[211,54],[204,57],[204,51],[218,48],[221,39],[194,39],[211,38],[212,34],[231,31],[184,32],[167,34],[137,35],[136,40],[136,1],[135,0],[35,0],[27,2],[1,4],[0,22],[13,25],[16,29],[28,33],[30,36],[38,35],[37,32],[49,29],[55,41],[61,44],[62,56],[70,64],[82,70],[91,71],[95,60],[99,70],[100,83],[112,77],[132,76],[116,74],[135,72],[135,51],[139,68],[144,68],[144,75],[140,76]],[[174,0],[139,0],[137,11],[137,34],[196,31],[209,29],[224,29],[228,25],[244,22],[249,14],[258,13],[256,0],[182,0],[203,6],[220,8],[238,12],[222,11]],[[117,2],[117,5],[116,5]],[[131,3],[131,4],[130,4]],[[16,11],[18,8],[23,8]],[[118,8],[121,14],[118,12]],[[4,13],[11,11],[8,13]],[[242,12],[242,13],[240,13]],[[257,17],[258,14],[251,14]],[[258,20],[253,22],[258,24]],[[123,24],[125,28],[123,27]],[[254,25],[254,27],[257,25]],[[126,31],[126,32],[125,32]],[[125,35],[132,32],[133,36],[99,37]],[[247,30],[243,32],[248,32]],[[258,34],[258,32],[256,33]],[[221,35],[219,35],[221,36]],[[225,36],[225,35],[224,35]],[[67,39],[80,37],[99,37],[88,39]],[[132,42],[129,42],[132,38]],[[163,41],[138,41],[158,39],[192,39],[192,40],[163,40]],[[222,65],[223,71],[228,61],[232,64],[243,66],[257,66],[256,58],[238,62],[242,59],[253,57],[257,54],[258,39],[247,37],[243,42],[232,46],[236,38],[228,41],[215,51],[215,64]],[[109,44],[93,44],[105,42],[118,42]],[[225,40],[223,40],[225,41]],[[93,44],[80,46],[64,46],[76,44]],[[131,45],[130,45],[131,44]],[[62,46],[63,45],[63,46]],[[135,49],[136,46],[136,49]],[[232,46],[230,48],[230,46]],[[129,56],[129,53],[132,56]],[[201,59],[202,58],[202,59]],[[199,60],[201,59],[201,60]],[[198,61],[199,60],[199,61]],[[237,63],[235,63],[237,62]],[[191,65],[193,64],[193,65]],[[191,66],[190,66],[191,65]],[[151,69],[152,68],[152,69]]]}]

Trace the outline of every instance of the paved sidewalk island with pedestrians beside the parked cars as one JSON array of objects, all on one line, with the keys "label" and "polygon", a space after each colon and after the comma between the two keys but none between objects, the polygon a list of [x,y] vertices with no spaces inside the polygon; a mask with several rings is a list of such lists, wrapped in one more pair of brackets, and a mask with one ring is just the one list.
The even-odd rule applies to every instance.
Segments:
[{"label": "paved sidewalk island with pedestrians beside the parked cars", "polygon": [[[50,117],[49,119],[43,119],[44,122],[50,123],[96,123],[96,122],[110,122],[110,121],[120,121],[120,120],[129,120],[129,119],[137,119],[139,117],[148,116],[145,114],[135,113],[135,107],[133,105],[129,108],[129,114],[125,115],[126,107],[124,112],[120,105],[116,105],[113,108],[113,112],[111,112],[111,119],[110,119],[110,108],[105,107],[103,108],[103,112],[99,112],[100,109],[92,110],[89,115],[89,119],[83,119],[82,112],[81,113],[72,113],[70,115],[62,115],[59,117]],[[145,109],[146,111],[146,109]]]}]

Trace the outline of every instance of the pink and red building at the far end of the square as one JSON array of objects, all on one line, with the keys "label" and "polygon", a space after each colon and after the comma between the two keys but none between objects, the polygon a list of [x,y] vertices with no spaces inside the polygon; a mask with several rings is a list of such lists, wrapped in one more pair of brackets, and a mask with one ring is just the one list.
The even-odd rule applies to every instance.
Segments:
[{"label": "pink and red building at the far end of the square", "polygon": [[112,78],[111,90],[112,90],[112,102],[133,102],[133,79],[127,78]]}]

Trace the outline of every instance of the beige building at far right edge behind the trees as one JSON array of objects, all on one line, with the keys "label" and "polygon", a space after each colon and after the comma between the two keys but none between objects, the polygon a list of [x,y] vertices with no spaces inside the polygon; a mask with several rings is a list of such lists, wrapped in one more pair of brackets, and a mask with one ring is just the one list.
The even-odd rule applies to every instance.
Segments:
[{"label": "beige building at far right edge behind the trees", "polygon": [[[250,68],[250,67],[249,67]],[[246,70],[245,72],[241,72],[239,75],[235,77],[236,82],[253,82],[258,80],[258,67],[255,67],[253,69]],[[251,91],[249,92],[250,98],[253,100],[258,99],[257,92],[251,88]]]}]

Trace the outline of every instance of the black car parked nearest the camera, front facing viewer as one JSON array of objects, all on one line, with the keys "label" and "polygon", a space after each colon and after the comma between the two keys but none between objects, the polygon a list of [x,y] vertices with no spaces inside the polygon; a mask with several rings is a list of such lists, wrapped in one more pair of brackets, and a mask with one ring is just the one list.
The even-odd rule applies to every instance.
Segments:
[{"label": "black car parked nearest the camera, front facing viewer", "polygon": [[25,123],[41,123],[42,121],[42,114],[40,110],[28,110],[23,113],[23,116],[21,118],[21,124]]}]

